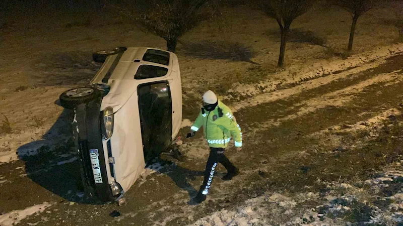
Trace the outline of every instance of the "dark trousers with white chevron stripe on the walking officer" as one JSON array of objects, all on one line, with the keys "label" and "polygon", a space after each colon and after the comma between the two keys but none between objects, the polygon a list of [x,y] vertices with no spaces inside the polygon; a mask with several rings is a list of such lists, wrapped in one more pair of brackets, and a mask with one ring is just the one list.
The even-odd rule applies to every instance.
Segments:
[{"label": "dark trousers with white chevron stripe on the walking officer", "polygon": [[200,192],[202,194],[206,195],[209,193],[217,163],[221,163],[228,172],[232,172],[236,169],[230,160],[224,155],[223,148],[210,148],[210,155],[205,170],[205,179],[203,185],[200,187]]}]

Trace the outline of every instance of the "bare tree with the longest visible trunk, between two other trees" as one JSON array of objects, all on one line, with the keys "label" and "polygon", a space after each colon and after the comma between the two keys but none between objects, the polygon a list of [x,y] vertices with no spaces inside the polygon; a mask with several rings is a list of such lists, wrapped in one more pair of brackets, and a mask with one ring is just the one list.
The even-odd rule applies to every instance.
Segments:
[{"label": "bare tree with the longest visible trunk, between two other trees", "polygon": [[291,23],[305,14],[314,3],[314,0],[256,0],[267,16],[274,18],[280,26],[281,44],[278,67],[283,67],[286,51],[287,34]]}]

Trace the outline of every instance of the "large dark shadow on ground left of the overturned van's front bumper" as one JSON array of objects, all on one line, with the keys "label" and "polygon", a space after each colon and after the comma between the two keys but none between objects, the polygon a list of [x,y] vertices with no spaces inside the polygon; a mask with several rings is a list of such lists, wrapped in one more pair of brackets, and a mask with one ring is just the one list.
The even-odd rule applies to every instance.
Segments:
[{"label": "large dark shadow on ground left of the overturned van's front bumper", "polygon": [[[94,203],[80,190],[80,168],[72,139],[74,113],[64,109],[41,140],[18,148],[27,176],[46,190],[78,203]],[[28,154],[28,155],[27,155]]]}]

